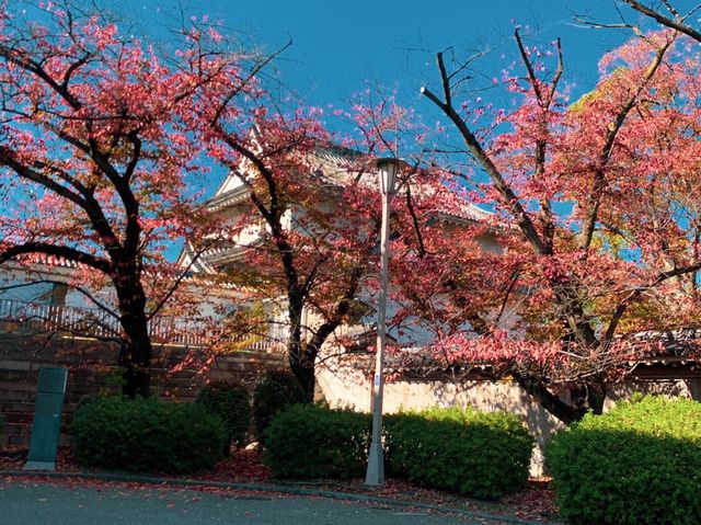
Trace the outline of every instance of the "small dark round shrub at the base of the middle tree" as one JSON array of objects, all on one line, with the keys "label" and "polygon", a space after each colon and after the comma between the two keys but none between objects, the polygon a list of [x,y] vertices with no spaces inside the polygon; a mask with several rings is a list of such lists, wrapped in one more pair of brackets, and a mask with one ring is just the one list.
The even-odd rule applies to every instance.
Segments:
[{"label": "small dark round shrub at the base of the middle tree", "polygon": [[286,372],[267,372],[253,390],[256,438],[261,443],[265,442],[265,429],[278,410],[290,403],[303,402],[304,392],[295,376]]}]

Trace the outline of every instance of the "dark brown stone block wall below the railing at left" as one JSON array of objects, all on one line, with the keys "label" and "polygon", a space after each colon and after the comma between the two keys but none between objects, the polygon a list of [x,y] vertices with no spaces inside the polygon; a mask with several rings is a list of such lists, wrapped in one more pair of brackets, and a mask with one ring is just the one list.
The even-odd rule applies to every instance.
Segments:
[{"label": "dark brown stone block wall below the railing at left", "polygon": [[[38,370],[46,366],[68,368],[68,384],[62,416],[62,443],[66,427],[80,399],[102,391],[119,391],[119,370],[115,366],[117,345],[61,334],[0,331],[0,414],[5,431],[0,446],[26,446],[34,415]],[[181,372],[174,367],[184,358],[193,359]],[[239,351],[216,357],[206,373],[198,361],[202,351],[183,346],[156,345],[152,368],[152,393],[177,401],[195,398],[207,379],[232,379],[253,388],[263,370],[280,368],[285,356],[277,352]]]}]

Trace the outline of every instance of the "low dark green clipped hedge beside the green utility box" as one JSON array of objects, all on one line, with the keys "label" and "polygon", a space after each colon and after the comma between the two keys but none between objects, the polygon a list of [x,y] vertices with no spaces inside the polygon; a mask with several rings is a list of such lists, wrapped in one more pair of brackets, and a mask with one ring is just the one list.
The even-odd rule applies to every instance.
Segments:
[{"label": "low dark green clipped hedge beside the green utility box", "polygon": [[227,433],[199,404],[157,399],[92,398],[70,426],[71,448],[89,467],[140,472],[191,472],[221,457]]}]

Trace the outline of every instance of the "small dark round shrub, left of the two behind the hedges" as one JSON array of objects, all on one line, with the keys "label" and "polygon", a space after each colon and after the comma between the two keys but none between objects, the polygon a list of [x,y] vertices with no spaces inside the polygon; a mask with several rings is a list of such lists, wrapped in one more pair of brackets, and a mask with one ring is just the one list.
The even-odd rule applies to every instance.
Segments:
[{"label": "small dark round shrub, left of the two behind the hedges", "polygon": [[244,387],[233,381],[211,381],[200,390],[195,402],[221,419],[229,444],[245,443],[251,424],[251,396]]}]

